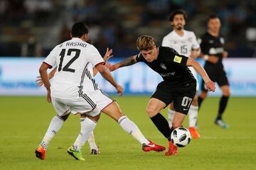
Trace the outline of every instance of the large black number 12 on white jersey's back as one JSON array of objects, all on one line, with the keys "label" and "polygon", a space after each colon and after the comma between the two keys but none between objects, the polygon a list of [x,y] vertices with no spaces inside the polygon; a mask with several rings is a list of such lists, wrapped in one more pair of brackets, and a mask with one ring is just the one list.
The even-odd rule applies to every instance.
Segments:
[{"label": "large black number 12 on white jersey's back", "polygon": [[[59,67],[58,67],[58,72],[61,71],[62,69],[62,64],[63,64],[63,59],[65,57],[65,51],[66,49],[64,48],[63,50],[61,50],[60,52],[60,64],[59,64]],[[75,72],[75,69],[70,69],[70,65],[75,62],[75,60],[78,59],[78,57],[80,56],[80,52],[81,50],[79,49],[74,49],[74,48],[70,48],[68,49],[68,53],[67,53],[67,56],[70,56],[72,52],[75,52],[75,56],[63,67],[63,72]]]}]

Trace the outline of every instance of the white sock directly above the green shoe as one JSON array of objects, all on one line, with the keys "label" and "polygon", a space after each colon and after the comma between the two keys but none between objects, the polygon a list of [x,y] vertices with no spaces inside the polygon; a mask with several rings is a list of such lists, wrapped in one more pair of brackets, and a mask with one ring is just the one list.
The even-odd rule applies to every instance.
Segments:
[{"label": "white sock directly above the green shoe", "polygon": [[97,123],[93,120],[90,120],[90,118],[81,118],[81,130],[73,145],[73,148],[76,151],[79,151],[81,147],[85,145],[86,140],[91,135],[96,125]]}]

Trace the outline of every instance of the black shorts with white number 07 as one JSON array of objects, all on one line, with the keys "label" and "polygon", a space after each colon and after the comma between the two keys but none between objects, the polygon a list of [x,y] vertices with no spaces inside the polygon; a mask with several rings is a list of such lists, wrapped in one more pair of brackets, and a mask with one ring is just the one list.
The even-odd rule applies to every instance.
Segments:
[{"label": "black shorts with white number 07", "polygon": [[175,111],[188,114],[188,110],[196,94],[196,81],[192,83],[171,85],[167,81],[161,81],[151,98],[157,98],[166,103],[166,106],[174,101]]}]

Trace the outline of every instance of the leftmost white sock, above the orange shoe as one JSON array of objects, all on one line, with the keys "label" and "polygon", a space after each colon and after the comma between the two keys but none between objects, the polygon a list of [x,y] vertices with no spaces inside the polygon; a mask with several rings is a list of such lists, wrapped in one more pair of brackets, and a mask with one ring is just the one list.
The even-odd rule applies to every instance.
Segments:
[{"label": "leftmost white sock, above the orange shoe", "polygon": [[43,140],[40,143],[40,145],[43,147],[43,149],[45,149],[45,150],[47,149],[50,140],[52,140],[53,137],[55,136],[55,134],[58,132],[58,130],[60,130],[63,123],[64,123],[64,121],[62,119],[60,119],[58,116],[55,115],[53,117],[53,119],[50,121],[48,130],[46,131],[46,135],[43,137]]}]

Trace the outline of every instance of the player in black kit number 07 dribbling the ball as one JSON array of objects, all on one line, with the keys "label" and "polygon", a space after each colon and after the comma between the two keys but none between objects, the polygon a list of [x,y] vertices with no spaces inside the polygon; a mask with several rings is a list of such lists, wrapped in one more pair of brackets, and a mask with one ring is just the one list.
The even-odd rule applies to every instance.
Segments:
[{"label": "player in black kit number 07 dribbling the ball", "polygon": [[[137,39],[137,48],[140,51],[139,55],[133,55],[122,62],[109,65],[109,69],[114,71],[120,67],[144,62],[161,75],[164,81],[161,81],[156,87],[156,91],[146,106],[146,112],[156,128],[169,140],[169,150],[165,156],[176,155],[178,148],[171,142],[171,132],[182,126],[196,94],[196,79],[188,66],[196,69],[209,91],[215,91],[215,84],[209,79],[201,64],[191,58],[179,55],[171,47],[156,47],[155,40],[151,36],[140,36]],[[176,113],[174,113],[172,128],[169,128],[168,121],[159,112],[172,101],[174,101]]]}]

